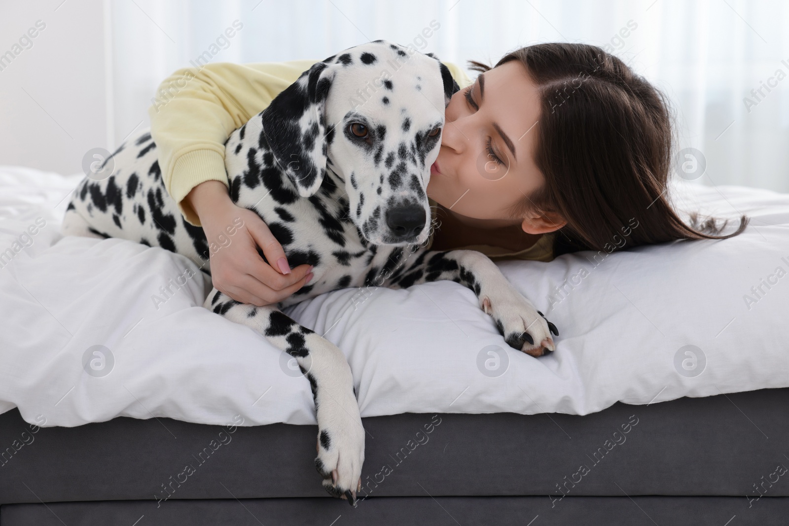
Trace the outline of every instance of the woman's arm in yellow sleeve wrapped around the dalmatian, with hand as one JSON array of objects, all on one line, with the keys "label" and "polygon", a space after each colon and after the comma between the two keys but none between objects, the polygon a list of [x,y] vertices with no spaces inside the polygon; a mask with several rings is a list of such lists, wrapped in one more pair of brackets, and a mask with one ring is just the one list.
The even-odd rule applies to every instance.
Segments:
[{"label": "woman's arm in yellow sleeve wrapped around the dalmatian, with hand", "polygon": [[224,144],[315,62],[219,62],[179,69],[159,86],[148,109],[163,181],[185,220],[202,226],[209,242],[234,219],[243,220],[232,242],[209,256],[215,288],[242,303],[279,302],[312,275],[308,265],[291,272],[282,245],[260,216],[230,200]]}]

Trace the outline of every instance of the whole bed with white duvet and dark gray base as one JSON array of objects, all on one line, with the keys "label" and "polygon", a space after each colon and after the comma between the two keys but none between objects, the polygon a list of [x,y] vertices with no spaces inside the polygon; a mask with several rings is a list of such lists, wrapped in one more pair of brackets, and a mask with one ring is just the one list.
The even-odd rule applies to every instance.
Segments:
[{"label": "whole bed with white duvet and dark gray base", "polygon": [[0,167],[2,526],[785,517],[789,195],[677,181],[681,210],[751,226],[498,263],[559,327],[539,359],[508,349],[453,282],[288,308],[353,370],[367,445],[352,509],[312,466],[308,383],[200,308],[210,286],[193,263],[60,237],[79,178]]}]

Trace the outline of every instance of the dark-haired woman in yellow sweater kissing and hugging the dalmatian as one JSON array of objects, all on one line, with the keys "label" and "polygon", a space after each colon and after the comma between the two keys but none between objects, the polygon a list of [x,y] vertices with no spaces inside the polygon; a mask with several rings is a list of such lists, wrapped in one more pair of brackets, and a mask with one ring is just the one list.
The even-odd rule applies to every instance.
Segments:
[{"label": "dark-haired woman in yellow sweater kissing and hugging the dalmatian", "polygon": [[[222,145],[314,62],[181,69],[149,110],[166,187],[185,219],[203,226],[209,241],[244,220],[234,242],[211,255],[214,286],[242,303],[277,303],[312,274],[307,265],[291,270],[264,222],[230,200]],[[734,233],[720,236],[713,219],[697,229],[695,215],[688,226],[673,211],[667,101],[619,58],[600,47],[544,43],[492,69],[469,64],[482,72],[473,84],[447,64],[462,89],[447,106],[428,184],[438,219],[430,248],[550,261],[745,229],[744,215]]]}]

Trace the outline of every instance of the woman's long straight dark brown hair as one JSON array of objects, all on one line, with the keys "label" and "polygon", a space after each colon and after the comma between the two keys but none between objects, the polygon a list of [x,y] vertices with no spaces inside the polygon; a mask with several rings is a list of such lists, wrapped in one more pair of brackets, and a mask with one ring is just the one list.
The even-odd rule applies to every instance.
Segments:
[{"label": "woman's long straight dark brown hair", "polygon": [[[671,207],[668,177],[675,155],[665,95],[603,49],[578,43],[543,43],[506,54],[540,91],[534,160],[545,184],[509,212],[554,212],[567,221],[553,252],[614,252],[678,239],[726,239],[715,218],[686,225]],[[469,69],[490,66],[468,61]],[[620,245],[619,241],[624,240]]]}]

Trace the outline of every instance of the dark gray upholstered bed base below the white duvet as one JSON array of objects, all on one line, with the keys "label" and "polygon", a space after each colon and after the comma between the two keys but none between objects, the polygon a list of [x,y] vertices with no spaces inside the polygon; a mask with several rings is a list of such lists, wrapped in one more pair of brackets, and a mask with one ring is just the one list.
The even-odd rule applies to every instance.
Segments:
[{"label": "dark gray upholstered bed base below the white duvet", "polygon": [[313,426],[122,417],[32,433],[13,409],[0,526],[789,524],[787,405],[772,389],[587,416],[365,418],[355,509],[324,496]]}]

